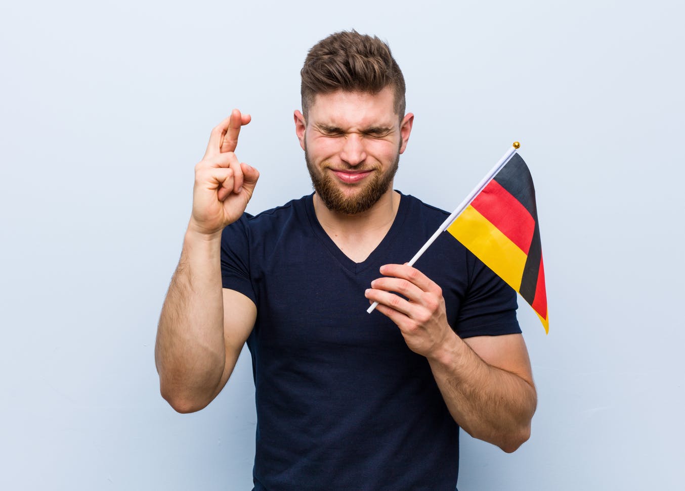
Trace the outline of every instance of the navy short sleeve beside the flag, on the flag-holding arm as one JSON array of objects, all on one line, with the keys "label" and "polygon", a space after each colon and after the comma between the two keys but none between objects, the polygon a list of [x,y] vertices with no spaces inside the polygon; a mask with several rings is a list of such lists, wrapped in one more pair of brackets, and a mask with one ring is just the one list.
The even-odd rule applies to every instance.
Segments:
[{"label": "navy short sleeve beside the flag, on the flag-holding arm", "polygon": [[457,334],[468,338],[520,333],[516,291],[470,252],[466,263],[469,285],[458,313]]}]

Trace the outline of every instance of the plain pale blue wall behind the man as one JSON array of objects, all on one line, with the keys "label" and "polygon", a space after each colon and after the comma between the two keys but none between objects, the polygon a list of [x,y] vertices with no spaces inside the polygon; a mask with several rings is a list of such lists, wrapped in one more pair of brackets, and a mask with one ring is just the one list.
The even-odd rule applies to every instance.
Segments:
[{"label": "plain pale blue wall behind the man", "polygon": [[0,488],[251,489],[247,351],[208,408],[176,414],[156,323],[210,129],[253,116],[248,211],[308,194],[299,69],[351,28],[406,77],[397,189],[451,210],[514,140],[536,182],[532,438],[508,455],[462,434],[460,491],[680,488],[681,5],[3,2]]}]

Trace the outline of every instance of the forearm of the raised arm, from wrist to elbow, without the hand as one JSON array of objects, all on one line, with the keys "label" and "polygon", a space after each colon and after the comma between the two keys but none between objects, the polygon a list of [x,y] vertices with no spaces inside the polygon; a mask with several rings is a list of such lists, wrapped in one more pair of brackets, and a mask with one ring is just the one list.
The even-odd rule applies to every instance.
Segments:
[{"label": "forearm of the raised arm, from wrist to elbow, without the hand", "polygon": [[160,315],[155,345],[160,389],[180,412],[206,406],[225,367],[220,251],[221,233],[186,232]]}]

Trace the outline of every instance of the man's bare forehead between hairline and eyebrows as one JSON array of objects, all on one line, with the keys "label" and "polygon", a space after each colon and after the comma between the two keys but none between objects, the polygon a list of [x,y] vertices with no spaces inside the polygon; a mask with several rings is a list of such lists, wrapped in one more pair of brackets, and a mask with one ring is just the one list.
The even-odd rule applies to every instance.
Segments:
[{"label": "man's bare forehead between hairline and eyebrows", "polygon": [[386,87],[377,94],[345,92],[316,94],[308,110],[308,123],[327,124],[340,128],[371,127],[397,124],[395,94]]}]

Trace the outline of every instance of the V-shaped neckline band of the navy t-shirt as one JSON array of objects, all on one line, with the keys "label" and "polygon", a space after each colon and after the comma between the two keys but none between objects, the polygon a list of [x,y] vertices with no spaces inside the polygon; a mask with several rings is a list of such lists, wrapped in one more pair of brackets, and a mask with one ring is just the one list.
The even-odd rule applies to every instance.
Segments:
[{"label": "V-shaped neckline band of the navy t-shirt", "polygon": [[404,224],[404,220],[407,217],[406,211],[407,207],[409,206],[409,200],[407,199],[407,196],[401,194],[399,191],[397,191],[397,193],[400,196],[399,207],[397,208],[395,220],[393,220],[390,230],[388,230],[385,237],[383,237],[383,240],[376,245],[376,248],[371,251],[371,254],[369,254],[369,256],[361,263],[355,263],[349,257],[347,257],[345,252],[340,250],[333,239],[331,239],[326,231],[323,230],[321,223],[319,223],[319,219],[316,218],[316,212],[314,211],[314,193],[306,197],[305,208],[314,235],[319,237],[319,240],[321,240],[323,246],[332,254],[332,256],[334,256],[334,258],[336,258],[340,265],[345,267],[345,269],[353,274],[359,274],[370,265],[373,265],[378,256],[382,256],[384,254],[384,252],[388,249],[388,246],[393,243],[393,240],[395,240],[395,237],[397,237],[397,233],[399,233],[399,230],[401,230],[402,225]]}]

